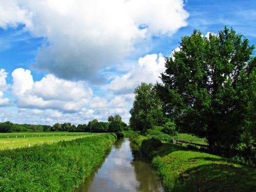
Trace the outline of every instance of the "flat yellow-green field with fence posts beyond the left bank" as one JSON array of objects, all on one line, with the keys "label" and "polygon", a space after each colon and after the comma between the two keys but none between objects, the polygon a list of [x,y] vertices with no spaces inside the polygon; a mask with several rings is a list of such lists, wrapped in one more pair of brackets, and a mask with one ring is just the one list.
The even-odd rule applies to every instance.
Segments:
[{"label": "flat yellow-green field with fence posts beyond the left bank", "polygon": [[1,133],[0,134],[0,150],[17,148],[17,147],[29,147],[35,144],[54,143],[61,140],[70,141],[77,138],[92,137],[100,134],[101,133],[69,133],[69,132]]}]

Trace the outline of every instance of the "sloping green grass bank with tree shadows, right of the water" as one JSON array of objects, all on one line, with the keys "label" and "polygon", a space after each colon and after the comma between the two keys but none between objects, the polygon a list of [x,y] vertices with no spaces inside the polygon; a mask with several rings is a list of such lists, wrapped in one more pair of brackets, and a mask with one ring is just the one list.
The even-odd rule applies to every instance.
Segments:
[{"label": "sloping green grass bank with tree shadows, right of the water", "polygon": [[148,136],[133,141],[152,158],[166,191],[255,190],[255,167]]}]

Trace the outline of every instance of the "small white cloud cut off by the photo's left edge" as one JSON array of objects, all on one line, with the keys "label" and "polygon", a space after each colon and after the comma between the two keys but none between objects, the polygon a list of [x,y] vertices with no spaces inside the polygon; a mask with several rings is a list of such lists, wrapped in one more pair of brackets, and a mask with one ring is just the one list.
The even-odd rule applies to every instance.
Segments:
[{"label": "small white cloud cut off by the photo's left edge", "polygon": [[6,83],[7,72],[4,69],[0,69],[0,106],[8,105],[10,99],[3,98],[4,91],[8,90],[9,84]]}]

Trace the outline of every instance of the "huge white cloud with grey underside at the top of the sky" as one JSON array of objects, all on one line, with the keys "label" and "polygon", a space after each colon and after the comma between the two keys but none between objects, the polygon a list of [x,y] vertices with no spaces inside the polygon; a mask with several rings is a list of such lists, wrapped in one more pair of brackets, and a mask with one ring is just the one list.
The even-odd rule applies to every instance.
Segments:
[{"label": "huge white cloud with grey underside at the top of the sky", "polygon": [[34,67],[64,79],[96,81],[141,41],[172,35],[188,17],[182,0],[2,2],[0,27],[23,23],[33,36],[45,37]]}]

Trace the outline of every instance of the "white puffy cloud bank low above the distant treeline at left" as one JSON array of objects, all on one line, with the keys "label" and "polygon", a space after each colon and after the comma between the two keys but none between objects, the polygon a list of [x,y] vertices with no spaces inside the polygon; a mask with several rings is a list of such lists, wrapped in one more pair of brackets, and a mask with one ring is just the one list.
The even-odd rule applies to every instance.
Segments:
[{"label": "white puffy cloud bank low above the distant treeline at left", "polygon": [[12,72],[12,77],[12,92],[19,108],[78,112],[93,94],[92,89],[85,89],[80,81],[67,81],[52,74],[34,82],[30,70],[18,68]]}]

